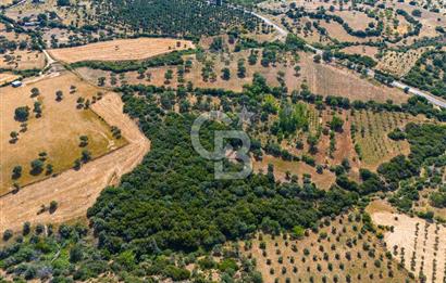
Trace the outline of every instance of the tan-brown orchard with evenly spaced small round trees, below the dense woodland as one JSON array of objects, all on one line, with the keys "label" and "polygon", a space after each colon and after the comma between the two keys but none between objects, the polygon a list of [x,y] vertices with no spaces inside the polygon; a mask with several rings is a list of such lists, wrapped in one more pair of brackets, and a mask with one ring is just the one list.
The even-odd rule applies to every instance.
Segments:
[{"label": "tan-brown orchard with evenly spaced small round trees, below the dense woodland", "polygon": [[240,249],[256,258],[264,282],[412,282],[386,257],[376,235],[360,232],[362,224],[360,216],[343,215],[322,221],[319,232],[308,231],[300,240],[259,234]]}]

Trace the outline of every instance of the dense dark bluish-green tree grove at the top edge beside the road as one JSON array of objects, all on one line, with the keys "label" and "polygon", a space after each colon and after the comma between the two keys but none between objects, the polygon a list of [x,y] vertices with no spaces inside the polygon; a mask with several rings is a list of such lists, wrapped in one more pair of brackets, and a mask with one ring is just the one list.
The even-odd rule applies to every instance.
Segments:
[{"label": "dense dark bluish-green tree grove at the top edge beside the road", "polygon": [[95,5],[102,25],[119,23],[151,35],[200,37],[237,25],[253,30],[260,21],[243,10],[199,0],[96,0]]}]

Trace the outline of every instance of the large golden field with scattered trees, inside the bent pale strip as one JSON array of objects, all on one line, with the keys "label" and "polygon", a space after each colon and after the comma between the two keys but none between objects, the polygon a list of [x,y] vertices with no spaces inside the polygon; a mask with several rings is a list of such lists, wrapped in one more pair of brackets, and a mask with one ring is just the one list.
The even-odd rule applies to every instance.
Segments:
[{"label": "large golden field with scattered trees, inside the bent pale strip", "polygon": [[[71,91],[71,86],[76,91]],[[35,98],[30,90],[37,88],[40,92]],[[63,92],[61,101],[55,100],[57,91]],[[1,182],[0,193],[12,189],[12,184],[21,186],[49,178],[52,173],[60,173],[74,166],[75,159],[82,156],[83,150],[88,150],[96,158],[116,150],[124,144],[124,138],[115,139],[110,126],[90,108],[77,107],[77,100],[92,100],[98,89],[83,82],[76,76],[65,73],[55,78],[47,78],[26,83],[21,88],[5,87],[0,97],[0,145],[1,145]],[[35,103],[40,103],[41,116],[36,117]],[[29,118],[26,130],[22,121],[15,119],[17,107],[28,106]],[[12,132],[18,134],[16,141]],[[88,144],[79,146],[80,136],[88,137]],[[45,168],[41,172],[33,172],[30,163],[41,157]],[[52,165],[52,173],[46,166]],[[15,166],[22,167],[20,177],[12,178]]]}]

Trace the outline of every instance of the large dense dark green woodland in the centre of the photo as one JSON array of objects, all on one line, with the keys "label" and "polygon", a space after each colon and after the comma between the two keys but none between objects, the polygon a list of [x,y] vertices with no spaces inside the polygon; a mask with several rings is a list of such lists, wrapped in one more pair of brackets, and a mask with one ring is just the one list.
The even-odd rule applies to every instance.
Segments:
[{"label": "large dense dark green woodland in the centre of the photo", "polygon": [[[340,189],[325,193],[310,183],[277,185],[268,176],[215,180],[213,163],[190,145],[194,116],[169,114],[161,119],[157,106],[132,94],[124,101],[152,149],[122,185],[106,189],[88,210],[99,246],[111,253],[131,248],[139,259],[168,248],[211,248],[261,227],[310,227],[321,215],[355,203],[355,195]],[[211,124],[202,129],[201,142],[212,144],[218,128]]]}]

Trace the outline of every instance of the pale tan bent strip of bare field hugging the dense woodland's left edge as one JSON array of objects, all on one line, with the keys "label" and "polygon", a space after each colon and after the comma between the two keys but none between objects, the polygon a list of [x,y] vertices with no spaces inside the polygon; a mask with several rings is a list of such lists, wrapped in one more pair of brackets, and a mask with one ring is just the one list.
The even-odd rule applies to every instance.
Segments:
[{"label": "pale tan bent strip of bare field hugging the dense woodland's left edge", "polygon": [[[150,141],[138,126],[122,112],[121,98],[113,92],[91,105],[91,110],[109,125],[121,129],[128,144],[84,165],[79,170],[70,169],[58,177],[23,188],[16,194],[0,198],[0,232],[21,229],[23,222],[60,223],[84,217],[99,193],[108,184],[135,168],[150,150]],[[38,214],[41,205],[49,207],[57,201],[53,214]]]}]

